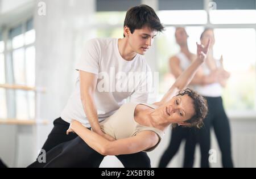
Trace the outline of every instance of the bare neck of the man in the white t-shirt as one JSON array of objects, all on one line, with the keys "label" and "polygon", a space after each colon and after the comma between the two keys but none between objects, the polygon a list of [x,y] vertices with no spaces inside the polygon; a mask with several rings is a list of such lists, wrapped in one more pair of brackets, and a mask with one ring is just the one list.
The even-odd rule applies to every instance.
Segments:
[{"label": "bare neck of the man in the white t-shirt", "polygon": [[118,51],[122,58],[127,61],[132,61],[137,55],[137,53],[131,49],[127,38],[118,39]]}]

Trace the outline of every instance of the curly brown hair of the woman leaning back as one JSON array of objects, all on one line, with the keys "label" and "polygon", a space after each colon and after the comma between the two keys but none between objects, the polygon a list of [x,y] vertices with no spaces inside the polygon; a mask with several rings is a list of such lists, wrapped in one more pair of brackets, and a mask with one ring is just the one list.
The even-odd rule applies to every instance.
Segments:
[{"label": "curly brown hair of the woman leaning back", "polygon": [[[185,127],[197,127],[201,128],[203,126],[203,120],[207,116],[208,113],[208,105],[207,100],[199,95],[196,91],[193,91],[189,88],[179,91],[177,96],[188,95],[193,100],[193,105],[195,108],[195,115],[192,116],[189,120],[185,121],[188,123]],[[176,127],[177,123],[172,124],[172,127]]]}]

